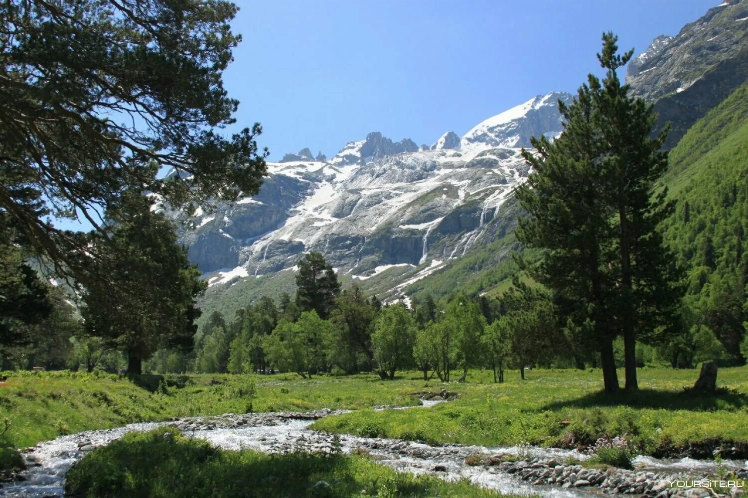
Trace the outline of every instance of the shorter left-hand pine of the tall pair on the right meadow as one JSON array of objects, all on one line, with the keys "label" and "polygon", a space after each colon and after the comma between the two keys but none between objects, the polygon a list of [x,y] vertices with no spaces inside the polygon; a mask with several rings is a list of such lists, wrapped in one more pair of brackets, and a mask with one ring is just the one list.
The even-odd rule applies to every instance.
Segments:
[{"label": "shorter left-hand pine of the tall pair on the right meadow", "polygon": [[583,84],[571,105],[559,102],[564,132],[551,142],[533,138],[536,153],[524,151],[533,167],[517,198],[527,211],[519,220],[518,239],[545,249],[536,264],[518,260],[534,280],[551,289],[556,309],[569,333],[600,354],[606,392],[619,388],[613,339],[615,281],[613,207],[601,194],[606,185],[598,160],[607,151],[592,125],[596,109]]}]

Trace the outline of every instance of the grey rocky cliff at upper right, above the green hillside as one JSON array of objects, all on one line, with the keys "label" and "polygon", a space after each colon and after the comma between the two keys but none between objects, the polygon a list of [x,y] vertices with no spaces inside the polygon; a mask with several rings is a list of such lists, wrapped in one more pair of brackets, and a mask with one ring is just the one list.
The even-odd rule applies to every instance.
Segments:
[{"label": "grey rocky cliff at upper right, above the green hillside", "polygon": [[748,79],[748,1],[713,7],[676,37],[657,37],[631,61],[626,81],[654,103],[660,126],[672,123],[666,147]]}]

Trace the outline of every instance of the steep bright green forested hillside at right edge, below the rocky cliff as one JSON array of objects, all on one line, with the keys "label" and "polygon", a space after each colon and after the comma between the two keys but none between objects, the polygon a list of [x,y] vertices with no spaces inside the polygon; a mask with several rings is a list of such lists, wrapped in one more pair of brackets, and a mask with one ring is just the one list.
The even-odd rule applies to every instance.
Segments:
[{"label": "steep bright green forested hillside at right edge, below the rocky cliff", "polygon": [[670,165],[665,185],[678,204],[663,232],[687,268],[687,319],[714,331],[723,357],[741,361],[748,312],[747,85],[690,129]]}]

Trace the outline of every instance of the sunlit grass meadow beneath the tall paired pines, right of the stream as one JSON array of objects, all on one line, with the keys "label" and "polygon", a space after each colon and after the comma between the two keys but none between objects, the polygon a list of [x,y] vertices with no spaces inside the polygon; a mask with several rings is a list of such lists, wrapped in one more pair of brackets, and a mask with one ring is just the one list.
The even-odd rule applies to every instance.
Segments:
[{"label": "sunlit grass meadow beneath the tall paired pines, right of the stream", "polygon": [[[686,392],[695,370],[641,369],[639,393],[601,393],[599,370],[534,370],[505,384],[450,384],[454,402],[429,410],[373,411],[320,419],[318,430],[484,446],[575,447],[625,437],[652,454],[689,443],[748,445],[748,367],[720,369],[716,395]],[[485,374],[481,374],[485,375]],[[619,374],[621,375],[621,374]],[[423,381],[422,381],[423,386]],[[426,388],[440,388],[429,383]],[[729,387],[729,389],[728,389]]]}]

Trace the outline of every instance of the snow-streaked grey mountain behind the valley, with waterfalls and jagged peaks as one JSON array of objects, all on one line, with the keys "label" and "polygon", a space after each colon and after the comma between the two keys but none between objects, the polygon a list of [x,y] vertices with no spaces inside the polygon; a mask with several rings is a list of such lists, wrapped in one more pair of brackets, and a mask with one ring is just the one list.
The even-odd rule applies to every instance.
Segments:
[{"label": "snow-streaked grey mountain behind the valley, with waterfalls and jagged peaks", "polygon": [[529,172],[521,147],[560,133],[558,99],[571,96],[535,97],[432,147],[373,132],[329,161],[308,149],[286,155],[268,164],[260,194],[198,211],[182,240],[211,286],[292,269],[318,251],[359,280],[397,268],[399,292],[495,239],[491,221]]}]

